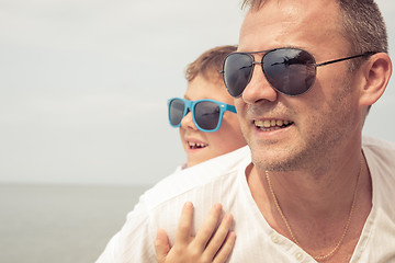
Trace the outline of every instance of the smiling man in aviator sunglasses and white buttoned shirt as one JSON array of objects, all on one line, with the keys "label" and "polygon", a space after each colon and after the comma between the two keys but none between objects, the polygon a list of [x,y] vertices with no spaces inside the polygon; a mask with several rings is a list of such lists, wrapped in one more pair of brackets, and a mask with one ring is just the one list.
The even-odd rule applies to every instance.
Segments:
[{"label": "smiling man in aviator sunglasses and white buttoned shirt", "polygon": [[[235,220],[229,262],[395,262],[395,146],[361,135],[392,71],[376,4],[245,4],[239,53],[225,59],[224,80],[252,162],[214,171],[213,160],[210,178],[189,187],[170,180],[183,186],[146,206],[140,227],[163,228],[173,242],[176,207],[193,202],[199,229],[219,202]],[[196,168],[183,179],[198,179],[206,164]],[[105,253],[112,250],[119,262],[155,262],[155,232],[131,235],[133,225]]]}]

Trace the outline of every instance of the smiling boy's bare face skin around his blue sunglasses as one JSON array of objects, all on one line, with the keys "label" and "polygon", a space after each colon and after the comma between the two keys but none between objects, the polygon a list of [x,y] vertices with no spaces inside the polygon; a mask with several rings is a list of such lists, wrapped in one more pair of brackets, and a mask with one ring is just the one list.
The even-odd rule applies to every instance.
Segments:
[{"label": "smiling boy's bare face skin around his blue sunglasses", "polygon": [[[184,98],[195,101],[212,99],[234,105],[221,79],[206,80],[201,76],[189,82]],[[235,113],[225,112],[217,132],[199,130],[189,112],[181,122],[180,138],[187,153],[187,165],[192,167],[214,157],[236,150],[246,145]]]}]

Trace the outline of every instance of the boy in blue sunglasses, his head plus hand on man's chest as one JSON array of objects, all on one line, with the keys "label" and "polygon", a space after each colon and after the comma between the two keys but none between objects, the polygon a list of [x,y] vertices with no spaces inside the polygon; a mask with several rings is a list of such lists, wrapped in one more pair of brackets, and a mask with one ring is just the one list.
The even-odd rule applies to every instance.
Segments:
[{"label": "boy in blue sunglasses, his head plus hand on man's chest", "polygon": [[[219,73],[225,57],[235,50],[235,46],[219,46],[203,53],[187,68],[188,87],[184,94],[187,101],[182,99],[169,101],[170,125],[179,127],[187,155],[187,163],[183,168],[193,167],[246,146],[236,111],[233,112],[233,98],[227,92]],[[215,100],[221,102],[221,105],[206,100]],[[188,108],[187,104],[192,108]],[[221,107],[228,110],[221,111]],[[193,205],[187,203],[171,249],[166,232],[162,229],[158,230],[155,241],[157,261],[176,263],[215,259],[215,262],[224,262],[233,249],[236,236],[229,231],[232,215],[225,214],[215,230],[221,215],[222,206],[215,204],[202,229],[192,238]]]}]

